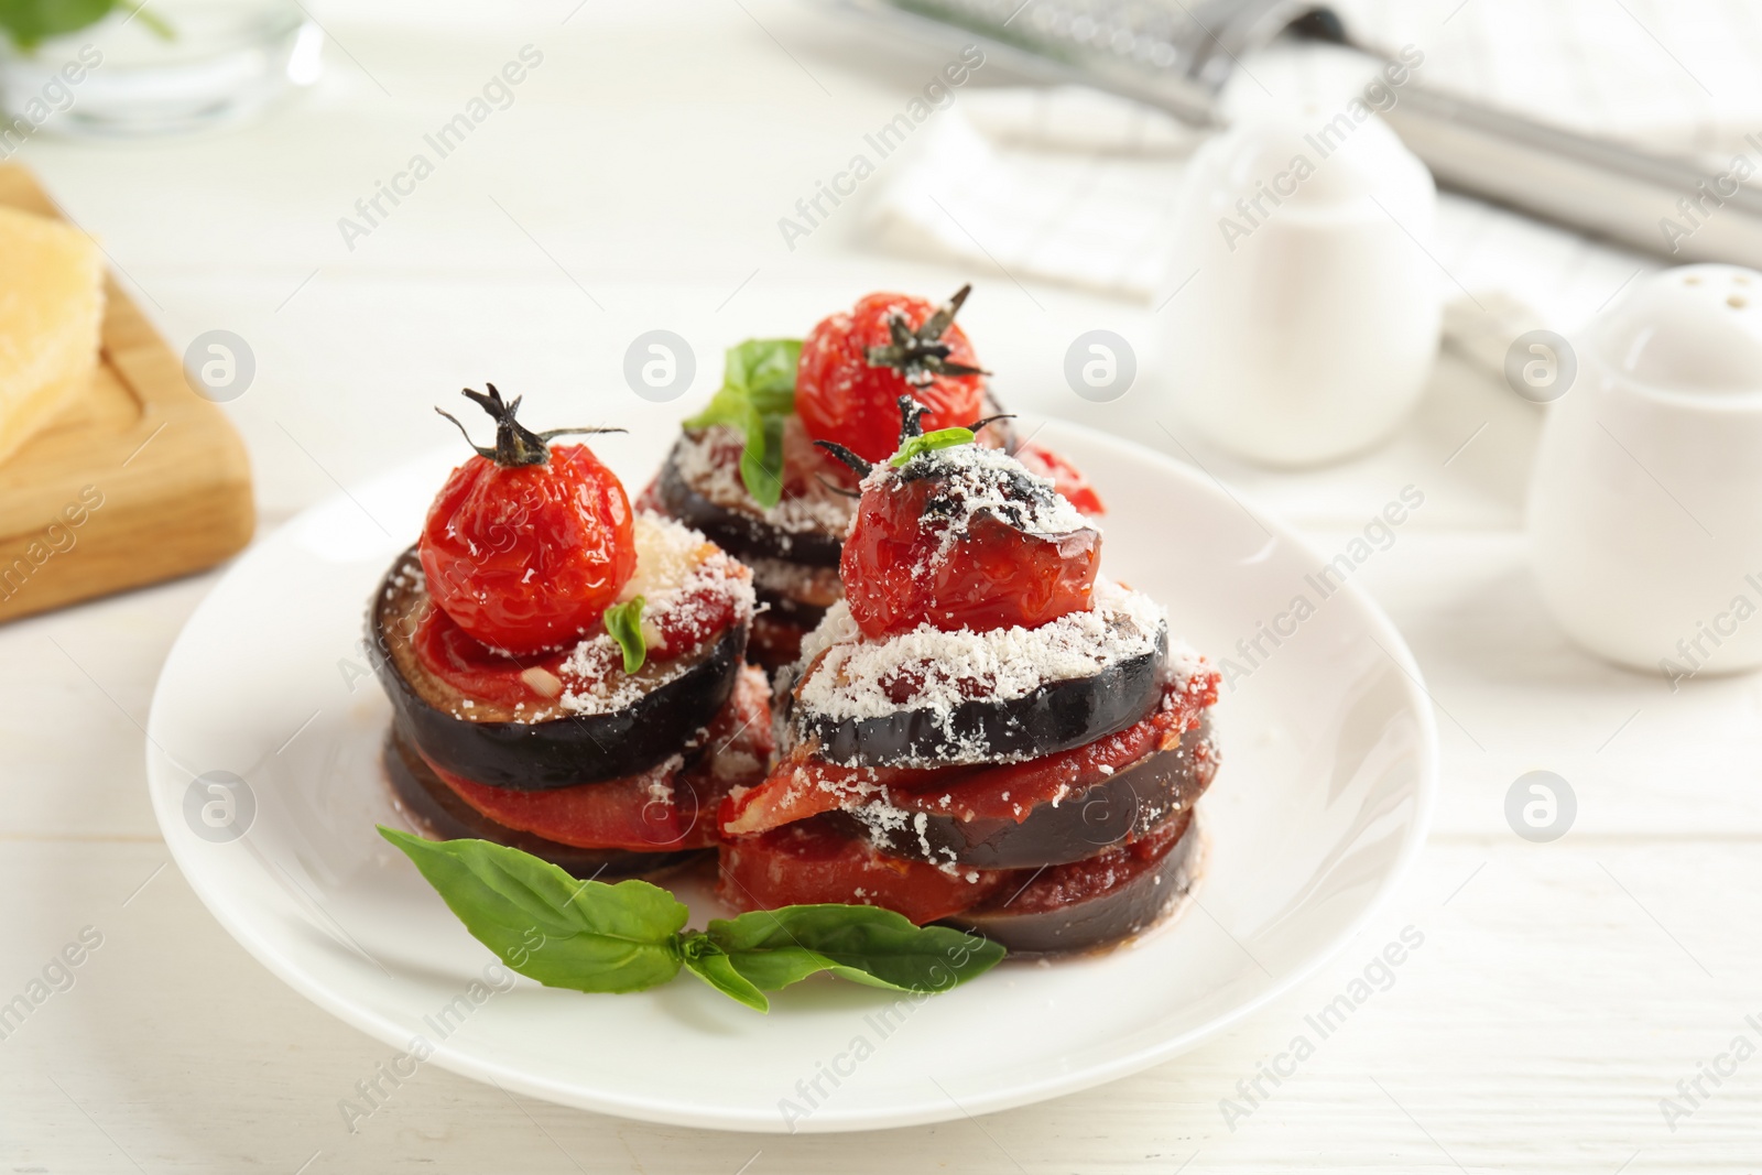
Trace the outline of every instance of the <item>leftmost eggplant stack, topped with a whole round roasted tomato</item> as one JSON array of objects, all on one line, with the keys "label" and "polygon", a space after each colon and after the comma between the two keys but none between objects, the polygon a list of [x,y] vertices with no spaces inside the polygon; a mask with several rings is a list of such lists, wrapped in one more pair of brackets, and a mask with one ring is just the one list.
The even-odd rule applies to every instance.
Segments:
[{"label": "leftmost eggplant stack, topped with a whole round roasted tomato", "polygon": [[770,689],[744,661],[751,573],[633,513],[585,444],[550,444],[594,430],[534,433],[518,398],[465,395],[495,446],[453,470],[368,611],[393,787],[437,839],[581,877],[684,863],[774,752]]}]

